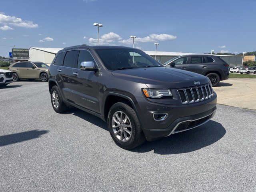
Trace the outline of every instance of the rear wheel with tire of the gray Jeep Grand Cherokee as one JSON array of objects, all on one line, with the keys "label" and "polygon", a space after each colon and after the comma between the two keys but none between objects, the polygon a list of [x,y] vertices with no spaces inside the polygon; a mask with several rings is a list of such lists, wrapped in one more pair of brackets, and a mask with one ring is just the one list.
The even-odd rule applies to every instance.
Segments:
[{"label": "rear wheel with tire of the gray Jeep Grand Cherokee", "polygon": [[62,113],[67,110],[66,104],[63,102],[58,87],[55,85],[51,90],[52,107],[55,112]]}]

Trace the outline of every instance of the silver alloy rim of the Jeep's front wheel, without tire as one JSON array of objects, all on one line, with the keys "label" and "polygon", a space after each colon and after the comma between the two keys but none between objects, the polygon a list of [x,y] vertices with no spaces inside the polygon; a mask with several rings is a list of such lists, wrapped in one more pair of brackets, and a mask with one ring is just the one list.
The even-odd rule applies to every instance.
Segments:
[{"label": "silver alloy rim of the Jeep's front wheel, without tire", "polygon": [[112,129],[116,138],[122,142],[128,142],[132,137],[131,121],[122,111],[117,111],[113,114]]}]

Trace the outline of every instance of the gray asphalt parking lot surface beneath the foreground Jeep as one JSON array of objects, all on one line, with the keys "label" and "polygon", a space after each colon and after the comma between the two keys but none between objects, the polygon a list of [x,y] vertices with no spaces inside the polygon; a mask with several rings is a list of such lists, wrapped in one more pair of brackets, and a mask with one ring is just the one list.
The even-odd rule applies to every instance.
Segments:
[{"label": "gray asphalt parking lot surface beneath the foreground Jeep", "polygon": [[128,151],[99,118],[52,109],[48,83],[0,89],[0,191],[255,191],[255,110]]}]

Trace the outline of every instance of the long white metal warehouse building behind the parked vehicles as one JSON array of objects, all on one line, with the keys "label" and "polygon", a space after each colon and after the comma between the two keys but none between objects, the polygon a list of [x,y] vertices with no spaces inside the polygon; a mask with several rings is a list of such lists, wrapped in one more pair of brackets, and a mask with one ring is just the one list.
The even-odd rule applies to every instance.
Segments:
[{"label": "long white metal warehouse building behind the parked vehicles", "polygon": [[[62,48],[41,48],[41,47],[30,47],[29,49],[29,61],[41,61],[48,65],[51,64],[52,60],[56,53],[62,50]],[[195,53],[183,53],[183,52],[161,52],[157,53],[154,51],[144,51],[146,54],[152,56],[156,59],[159,59],[161,63],[164,63],[174,57],[181,55],[191,55]],[[226,61],[230,66],[241,66],[242,65],[242,56],[225,56],[225,55],[216,55],[220,56],[224,61]]]}]

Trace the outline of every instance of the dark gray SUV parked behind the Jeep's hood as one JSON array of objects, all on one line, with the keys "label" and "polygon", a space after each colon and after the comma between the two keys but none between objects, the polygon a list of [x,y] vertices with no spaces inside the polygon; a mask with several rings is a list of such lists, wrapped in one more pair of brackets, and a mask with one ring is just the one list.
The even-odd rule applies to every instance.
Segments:
[{"label": "dark gray SUV parked behind the Jeep's hood", "polygon": [[229,78],[228,64],[219,56],[194,54],[173,58],[164,63],[164,66],[187,70],[207,76],[212,86]]}]

